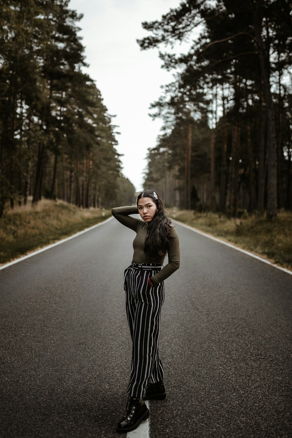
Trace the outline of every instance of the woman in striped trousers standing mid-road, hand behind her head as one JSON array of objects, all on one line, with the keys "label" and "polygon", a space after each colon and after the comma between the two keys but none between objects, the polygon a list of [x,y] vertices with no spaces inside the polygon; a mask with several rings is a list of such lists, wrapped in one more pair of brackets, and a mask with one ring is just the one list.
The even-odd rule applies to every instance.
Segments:
[{"label": "woman in striped trousers standing mid-road, hand behind her head", "polygon": [[[143,220],[130,216],[137,213]],[[129,432],[149,417],[144,400],[166,397],[158,353],[159,322],[164,280],[179,268],[179,238],[155,191],[139,194],[137,207],[113,208],[112,214],[137,233],[133,242],[133,261],[124,275],[127,318],[133,342],[127,389],[130,398],[126,415],[116,429]],[[162,268],[166,254],[169,262]]]}]

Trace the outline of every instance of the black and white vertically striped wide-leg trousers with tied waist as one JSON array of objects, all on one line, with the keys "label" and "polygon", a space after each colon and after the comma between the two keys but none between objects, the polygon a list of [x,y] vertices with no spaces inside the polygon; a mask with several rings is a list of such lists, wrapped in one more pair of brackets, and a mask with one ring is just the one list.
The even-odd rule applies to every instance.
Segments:
[{"label": "black and white vertically striped wide-leg trousers with tied waist", "polygon": [[153,287],[148,282],[161,267],[161,263],[132,262],[125,270],[126,310],[133,342],[130,383],[127,389],[131,397],[144,397],[148,383],[163,379],[158,338],[164,282]]}]

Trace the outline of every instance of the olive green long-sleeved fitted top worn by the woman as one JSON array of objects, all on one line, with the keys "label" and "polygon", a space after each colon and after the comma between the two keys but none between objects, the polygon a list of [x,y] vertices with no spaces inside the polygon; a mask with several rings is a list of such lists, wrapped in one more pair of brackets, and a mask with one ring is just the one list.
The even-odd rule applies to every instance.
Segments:
[{"label": "olive green long-sleeved fitted top worn by the woman", "polygon": [[[137,214],[138,208],[136,206],[126,206],[126,207],[116,207],[112,209],[112,215],[121,224],[127,226],[131,230],[136,232],[136,237],[133,241],[133,262],[134,263],[148,263],[146,254],[144,253],[145,237],[147,233],[148,223],[142,219],[133,218],[130,215]],[[176,269],[179,268],[179,237],[176,233],[175,227],[170,224],[170,236],[169,239],[169,250],[168,264],[165,265],[157,274],[151,277],[151,282],[156,286],[169,277]],[[159,257],[152,260],[151,263],[163,263],[165,257]]]}]

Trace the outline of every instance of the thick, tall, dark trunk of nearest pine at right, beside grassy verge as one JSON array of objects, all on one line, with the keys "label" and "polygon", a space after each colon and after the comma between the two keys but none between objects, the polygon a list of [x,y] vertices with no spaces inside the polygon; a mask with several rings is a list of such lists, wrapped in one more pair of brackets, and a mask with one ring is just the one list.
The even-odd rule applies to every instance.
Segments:
[{"label": "thick, tall, dark trunk of nearest pine at right, beside grassy verge", "polygon": [[266,102],[267,111],[267,219],[275,220],[277,218],[277,146],[275,137],[274,108],[270,85],[270,61],[268,59],[269,53],[266,55],[264,51],[264,43],[261,36],[261,19],[258,16],[256,0],[252,0],[252,4],[253,25],[257,40],[260,73],[263,81],[264,100]]}]

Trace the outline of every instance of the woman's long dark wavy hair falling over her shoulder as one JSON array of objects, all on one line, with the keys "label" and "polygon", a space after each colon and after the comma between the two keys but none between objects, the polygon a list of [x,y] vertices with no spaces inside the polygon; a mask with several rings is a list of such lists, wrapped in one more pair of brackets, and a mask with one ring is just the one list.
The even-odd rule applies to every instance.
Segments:
[{"label": "woman's long dark wavy hair falling over her shoulder", "polygon": [[[155,197],[157,195],[157,199]],[[139,199],[151,198],[155,202],[157,210],[151,222],[148,223],[147,234],[145,237],[144,252],[149,260],[163,257],[169,249],[170,236],[169,224],[171,220],[167,217],[162,199],[153,190],[145,190],[140,193],[137,198],[137,206]]]}]

